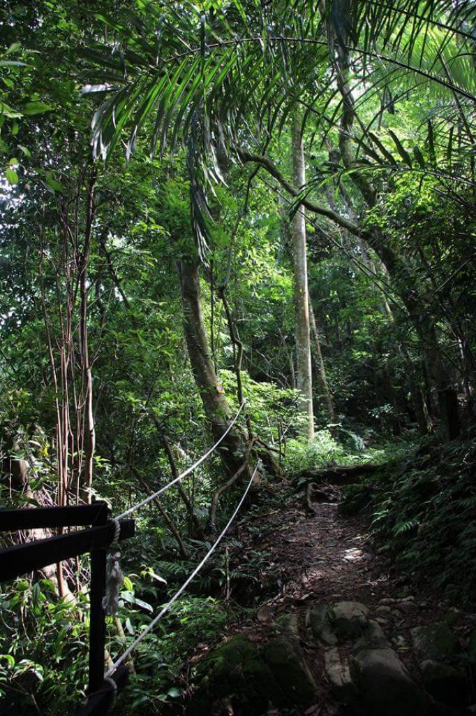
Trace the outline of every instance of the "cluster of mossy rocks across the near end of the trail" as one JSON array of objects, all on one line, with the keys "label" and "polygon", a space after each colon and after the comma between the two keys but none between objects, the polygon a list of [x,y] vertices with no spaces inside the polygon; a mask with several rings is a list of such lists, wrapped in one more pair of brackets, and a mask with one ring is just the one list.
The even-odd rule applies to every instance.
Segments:
[{"label": "cluster of mossy rocks across the near end of the trail", "polygon": [[[382,599],[372,611],[357,601],[313,604],[307,609],[304,632],[294,613],[271,621],[259,641],[236,634],[199,662],[189,714],[261,716],[269,708],[311,712],[318,685],[322,690],[326,683],[336,714],[466,714],[461,706],[465,674],[453,663],[460,643],[450,627],[442,622],[411,630],[412,656],[419,666],[415,678],[394,648],[396,644],[397,649],[408,649],[404,637],[394,636],[390,642],[377,621],[377,615],[387,614],[382,607],[396,619],[409,604],[412,598]],[[473,640],[476,644],[476,637]],[[304,657],[303,644],[314,645],[313,661]]]}]

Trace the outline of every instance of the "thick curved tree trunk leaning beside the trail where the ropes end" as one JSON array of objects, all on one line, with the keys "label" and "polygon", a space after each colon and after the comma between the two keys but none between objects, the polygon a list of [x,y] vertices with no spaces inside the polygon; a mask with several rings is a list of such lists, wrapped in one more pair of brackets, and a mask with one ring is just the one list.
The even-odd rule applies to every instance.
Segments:
[{"label": "thick curved tree trunk leaning beside the trail where the ropes end", "polygon": [[[180,290],[184,314],[184,334],[195,383],[200,392],[207,419],[215,440],[222,436],[232,419],[222,384],[214,369],[209,350],[202,310],[198,261],[179,263]],[[247,448],[247,435],[235,424],[218,448],[222,463],[229,475],[242,465]],[[247,470],[244,471],[244,478]]]}]

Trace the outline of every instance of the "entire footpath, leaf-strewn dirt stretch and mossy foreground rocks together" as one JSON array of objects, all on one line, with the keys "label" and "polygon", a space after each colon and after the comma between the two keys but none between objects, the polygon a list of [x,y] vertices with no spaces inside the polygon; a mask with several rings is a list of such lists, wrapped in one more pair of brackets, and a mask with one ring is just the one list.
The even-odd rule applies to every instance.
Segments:
[{"label": "entire footpath, leaf-strewn dirt stretch and mossy foreground rocks together", "polygon": [[[278,487],[277,490],[280,488]],[[398,581],[365,525],[317,490],[254,521],[240,555],[266,554],[273,596],[197,664],[190,712],[227,716],[469,715],[474,615]],[[246,540],[247,523],[241,535]],[[277,577],[276,577],[277,575]],[[273,578],[271,578],[273,581]],[[269,588],[269,584],[268,584]],[[472,640],[472,643],[471,643]]]}]

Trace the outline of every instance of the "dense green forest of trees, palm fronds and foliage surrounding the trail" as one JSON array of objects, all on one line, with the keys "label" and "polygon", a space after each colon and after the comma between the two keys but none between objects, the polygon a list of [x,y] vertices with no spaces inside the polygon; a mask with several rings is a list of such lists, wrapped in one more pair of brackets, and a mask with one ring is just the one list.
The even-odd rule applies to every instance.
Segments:
[{"label": "dense green forest of trees, palm fronds and foliage surrounding the trail", "polygon": [[[123,513],[222,440],[137,513],[111,652],[249,480],[259,502],[430,446],[463,465],[440,503],[474,518],[475,21],[470,0],[0,1],[1,508]],[[389,550],[427,519],[402,475],[346,498],[384,515]],[[442,569],[467,595],[471,529]],[[426,534],[415,574],[437,569]],[[221,634],[234,581],[256,603],[251,563],[230,588],[232,548],[143,642],[122,712],[181,697],[183,652]],[[74,712],[89,576],[81,557],[1,585],[7,713]]]}]

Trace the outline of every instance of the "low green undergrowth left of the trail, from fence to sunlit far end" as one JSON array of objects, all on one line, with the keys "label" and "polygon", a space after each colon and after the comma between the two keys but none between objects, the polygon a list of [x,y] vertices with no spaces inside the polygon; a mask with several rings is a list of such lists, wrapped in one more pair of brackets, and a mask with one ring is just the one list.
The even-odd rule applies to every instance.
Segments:
[{"label": "low green undergrowth left of the trail, from fence to sunlit far end", "polygon": [[[403,443],[392,446],[395,460],[402,459],[404,449]],[[365,447],[357,435],[340,426],[333,426],[332,432],[317,432],[310,445],[288,440],[282,463],[289,483],[264,480],[253,504],[234,523],[227,538],[228,551],[221,548],[214,553],[187,594],[144,639],[134,653],[137,673],[121,697],[118,712],[150,716],[179,712],[189,687],[184,662],[190,654],[200,652],[201,645],[219,642],[263,601],[279,593],[282,574],[266,546],[275,530],[269,516],[286,511],[296,499],[292,478],[299,470],[369,460],[387,463],[388,459],[388,446]],[[237,495],[239,489],[224,500],[225,516]],[[147,529],[140,529],[124,545],[122,566],[127,579],[118,614],[124,635],[117,631],[114,619],[108,618],[106,646],[113,658],[124,650],[122,639],[129,644],[137,637],[210,546],[207,540],[186,537],[189,559],[184,560],[172,538],[154,524],[147,522]],[[86,686],[88,629],[86,587],[79,591],[76,604],[63,604],[48,580],[35,584],[17,580],[7,586],[0,606],[0,710],[9,716],[73,714]]]}]

